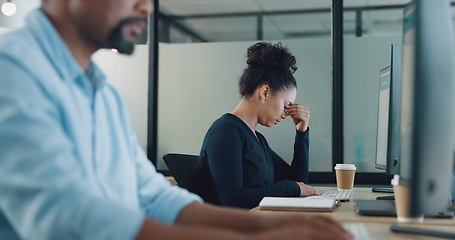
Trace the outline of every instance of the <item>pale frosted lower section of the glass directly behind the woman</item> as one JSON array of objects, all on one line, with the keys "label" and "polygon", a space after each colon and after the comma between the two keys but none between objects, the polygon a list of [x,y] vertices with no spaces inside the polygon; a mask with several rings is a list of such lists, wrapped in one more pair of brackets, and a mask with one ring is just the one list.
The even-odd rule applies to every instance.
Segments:
[{"label": "pale frosted lower section of the glass directly behind the woman", "polygon": [[[286,40],[299,69],[296,102],[309,107],[312,171],[329,171],[332,146],[332,72],[329,36]],[[158,96],[158,169],[166,153],[199,154],[207,129],[240,100],[238,79],[246,49],[254,42],[160,45]],[[292,160],[295,127],[291,119],[259,127],[269,145]]]}]

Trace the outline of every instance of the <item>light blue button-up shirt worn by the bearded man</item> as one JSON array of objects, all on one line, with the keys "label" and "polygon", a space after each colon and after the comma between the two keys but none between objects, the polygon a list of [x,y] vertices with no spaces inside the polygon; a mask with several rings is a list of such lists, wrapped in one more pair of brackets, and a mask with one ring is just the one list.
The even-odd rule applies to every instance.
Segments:
[{"label": "light blue button-up shirt worn by the bearded man", "polygon": [[0,239],[132,239],[145,217],[172,224],[194,201],[156,172],[119,94],[42,11],[0,36]]}]

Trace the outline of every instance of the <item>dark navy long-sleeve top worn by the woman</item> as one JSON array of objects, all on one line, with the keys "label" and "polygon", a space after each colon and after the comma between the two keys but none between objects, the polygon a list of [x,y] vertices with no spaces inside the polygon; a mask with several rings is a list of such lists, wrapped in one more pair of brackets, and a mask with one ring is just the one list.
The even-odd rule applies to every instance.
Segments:
[{"label": "dark navy long-sleeve top worn by the woman", "polygon": [[300,195],[307,182],[309,130],[296,130],[294,159],[287,164],[240,118],[224,114],[207,131],[199,155],[200,194],[206,202],[242,208],[263,197]]}]

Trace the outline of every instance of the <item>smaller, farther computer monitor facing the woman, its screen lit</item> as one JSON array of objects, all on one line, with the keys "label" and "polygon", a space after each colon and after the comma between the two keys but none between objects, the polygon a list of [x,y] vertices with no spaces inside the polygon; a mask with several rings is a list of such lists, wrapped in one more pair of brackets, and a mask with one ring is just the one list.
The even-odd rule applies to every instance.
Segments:
[{"label": "smaller, farther computer monitor facing the woman, its screen lit", "polygon": [[390,66],[379,71],[375,167],[394,175],[400,158],[401,61],[393,45],[390,50]]}]

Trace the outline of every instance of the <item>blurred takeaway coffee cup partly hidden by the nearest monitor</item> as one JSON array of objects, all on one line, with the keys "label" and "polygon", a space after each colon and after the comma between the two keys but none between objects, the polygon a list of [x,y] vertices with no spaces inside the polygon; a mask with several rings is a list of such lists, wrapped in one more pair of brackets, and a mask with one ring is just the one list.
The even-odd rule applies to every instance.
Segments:
[{"label": "blurred takeaway coffee cup partly hidden by the nearest monitor", "polygon": [[400,176],[393,177],[392,186],[398,222],[423,222],[423,214],[418,216],[409,214],[411,191],[405,185],[400,184]]}]

